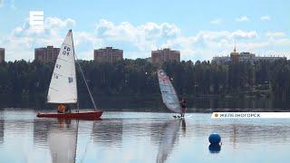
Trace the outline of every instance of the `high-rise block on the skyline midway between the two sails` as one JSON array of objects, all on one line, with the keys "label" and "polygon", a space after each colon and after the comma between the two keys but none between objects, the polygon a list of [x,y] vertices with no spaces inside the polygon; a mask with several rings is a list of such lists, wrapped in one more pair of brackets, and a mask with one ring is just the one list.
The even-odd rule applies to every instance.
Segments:
[{"label": "high-rise block on the skyline midway between the two sails", "polygon": [[93,51],[93,59],[95,62],[118,62],[123,60],[123,51],[112,47],[96,49]]}]

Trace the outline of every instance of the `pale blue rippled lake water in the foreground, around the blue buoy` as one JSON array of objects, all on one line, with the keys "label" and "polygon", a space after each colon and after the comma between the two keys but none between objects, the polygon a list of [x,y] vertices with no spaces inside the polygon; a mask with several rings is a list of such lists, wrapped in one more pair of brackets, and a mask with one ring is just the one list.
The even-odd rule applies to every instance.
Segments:
[{"label": "pale blue rippled lake water in the foreground, around the blue buoy", "polygon": [[[104,112],[102,120],[39,119],[0,110],[0,162],[287,162],[290,120],[213,120],[209,113]],[[208,136],[222,137],[220,149]],[[210,150],[209,150],[210,149]]]}]

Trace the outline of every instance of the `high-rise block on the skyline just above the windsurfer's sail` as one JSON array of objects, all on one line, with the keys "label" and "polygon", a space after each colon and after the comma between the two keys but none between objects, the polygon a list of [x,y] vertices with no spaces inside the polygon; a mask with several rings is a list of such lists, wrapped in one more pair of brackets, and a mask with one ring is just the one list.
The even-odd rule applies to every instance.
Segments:
[{"label": "high-rise block on the skyline just above the windsurfer's sail", "polygon": [[169,48],[151,52],[151,61],[153,63],[163,63],[163,62],[180,62],[180,52],[171,51]]}]

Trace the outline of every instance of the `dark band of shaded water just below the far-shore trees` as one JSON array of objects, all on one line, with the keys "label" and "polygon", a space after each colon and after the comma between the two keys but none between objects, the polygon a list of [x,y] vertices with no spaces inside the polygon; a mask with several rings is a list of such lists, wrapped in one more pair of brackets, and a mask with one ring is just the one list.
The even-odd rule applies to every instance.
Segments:
[{"label": "dark band of shaded water just below the far-shore trees", "polygon": [[[290,111],[290,100],[279,98],[242,98],[242,97],[186,97],[189,112],[211,112],[212,110],[232,111]],[[90,97],[80,96],[81,108],[92,108]],[[145,110],[168,112],[161,95],[98,95],[94,97],[98,108],[111,111]],[[109,102],[110,101],[110,102]],[[34,108],[42,110],[54,109],[56,105],[46,102],[46,95],[35,97],[19,97],[0,94],[0,108]]]}]

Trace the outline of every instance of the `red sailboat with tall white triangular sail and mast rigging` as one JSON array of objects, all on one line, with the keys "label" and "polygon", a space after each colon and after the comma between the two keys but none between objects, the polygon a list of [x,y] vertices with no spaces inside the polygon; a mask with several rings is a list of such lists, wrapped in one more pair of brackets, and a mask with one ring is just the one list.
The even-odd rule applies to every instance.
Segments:
[{"label": "red sailboat with tall white triangular sail and mast rigging", "polygon": [[[73,32],[69,30],[63,41],[60,53],[56,59],[52,80],[50,82],[47,102],[48,103],[66,103],[78,105],[78,92],[77,81],[75,73],[75,59],[73,47]],[[79,62],[77,62],[80,66]],[[38,113],[39,118],[64,118],[64,119],[84,119],[84,120],[97,120],[102,116],[102,110],[97,110],[96,105],[92,98],[92,93],[84,78],[82,67],[80,66],[82,78],[85,82],[87,90],[90,94],[94,111],[79,111],[79,108],[75,112],[71,113]]]}]

